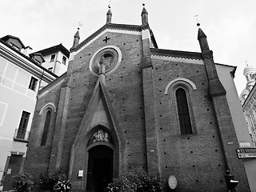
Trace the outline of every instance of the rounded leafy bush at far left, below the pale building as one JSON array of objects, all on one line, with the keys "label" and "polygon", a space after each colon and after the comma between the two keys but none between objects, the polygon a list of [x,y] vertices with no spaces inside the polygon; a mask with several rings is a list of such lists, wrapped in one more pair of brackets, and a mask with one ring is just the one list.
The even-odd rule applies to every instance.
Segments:
[{"label": "rounded leafy bush at far left, below the pale building", "polygon": [[16,174],[11,179],[11,184],[16,192],[30,192],[34,186],[33,179],[31,174]]}]

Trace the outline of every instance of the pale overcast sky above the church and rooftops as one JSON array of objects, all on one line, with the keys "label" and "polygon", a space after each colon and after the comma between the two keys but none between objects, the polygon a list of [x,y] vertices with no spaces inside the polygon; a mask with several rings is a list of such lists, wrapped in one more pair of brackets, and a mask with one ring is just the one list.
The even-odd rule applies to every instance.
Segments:
[{"label": "pale overcast sky above the church and rooftops", "polygon": [[[256,66],[255,0],[112,0],[112,22],[141,25],[142,3],[158,48],[200,52],[195,14],[214,62],[237,66],[238,94],[246,86],[243,69]],[[20,38],[34,51],[50,46],[69,50],[80,27],[80,42],[106,23],[108,0],[1,0],[0,37]]]}]

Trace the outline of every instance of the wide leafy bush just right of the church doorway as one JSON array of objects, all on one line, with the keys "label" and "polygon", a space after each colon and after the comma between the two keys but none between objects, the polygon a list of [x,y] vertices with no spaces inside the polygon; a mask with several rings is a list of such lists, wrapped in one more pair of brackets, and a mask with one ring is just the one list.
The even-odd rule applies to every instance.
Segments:
[{"label": "wide leafy bush just right of the church doorway", "polygon": [[126,174],[114,178],[105,192],[161,192],[163,182],[158,176]]}]

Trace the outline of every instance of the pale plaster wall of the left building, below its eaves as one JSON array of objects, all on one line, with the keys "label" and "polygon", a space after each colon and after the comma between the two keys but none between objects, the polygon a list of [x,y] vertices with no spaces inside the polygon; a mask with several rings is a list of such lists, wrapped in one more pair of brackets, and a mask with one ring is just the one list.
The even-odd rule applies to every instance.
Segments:
[{"label": "pale plaster wall of the left building, below its eaves", "polygon": [[30,113],[27,131],[30,130],[36,90],[30,90],[32,75],[20,67],[0,58],[0,178],[11,151],[26,153],[26,142],[14,142],[14,133],[18,129],[22,111]]}]

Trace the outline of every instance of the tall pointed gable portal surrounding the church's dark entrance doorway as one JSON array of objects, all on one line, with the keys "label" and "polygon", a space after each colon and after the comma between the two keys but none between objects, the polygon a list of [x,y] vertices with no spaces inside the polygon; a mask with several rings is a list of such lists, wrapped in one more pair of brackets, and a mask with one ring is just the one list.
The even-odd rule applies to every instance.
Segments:
[{"label": "tall pointed gable portal surrounding the church's dark entrance doorway", "polygon": [[103,191],[119,174],[124,140],[99,76],[70,154],[69,178],[74,191]]}]

